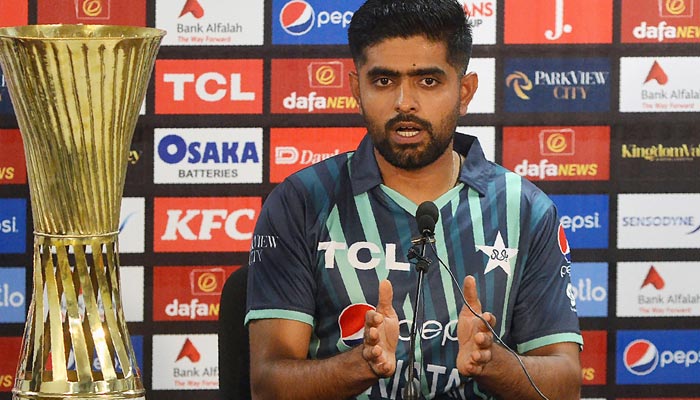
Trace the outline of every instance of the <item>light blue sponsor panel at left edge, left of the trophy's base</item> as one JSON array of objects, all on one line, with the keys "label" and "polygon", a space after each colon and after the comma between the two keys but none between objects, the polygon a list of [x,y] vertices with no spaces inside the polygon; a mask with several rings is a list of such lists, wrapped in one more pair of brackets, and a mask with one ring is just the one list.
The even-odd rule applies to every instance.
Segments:
[{"label": "light blue sponsor panel at left edge, left of the trophy's base", "polygon": [[24,322],[27,270],[0,267],[0,323]]}]

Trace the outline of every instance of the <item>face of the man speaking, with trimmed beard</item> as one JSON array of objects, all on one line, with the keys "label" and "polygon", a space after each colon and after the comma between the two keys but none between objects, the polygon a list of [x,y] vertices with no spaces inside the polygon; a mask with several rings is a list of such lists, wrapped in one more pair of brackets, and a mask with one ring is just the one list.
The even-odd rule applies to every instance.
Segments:
[{"label": "face of the man speaking, with trimmed beard", "polygon": [[462,75],[447,62],[446,45],[423,36],[386,39],[365,59],[350,82],[375,148],[398,168],[429,165],[450,146],[476,75]]}]

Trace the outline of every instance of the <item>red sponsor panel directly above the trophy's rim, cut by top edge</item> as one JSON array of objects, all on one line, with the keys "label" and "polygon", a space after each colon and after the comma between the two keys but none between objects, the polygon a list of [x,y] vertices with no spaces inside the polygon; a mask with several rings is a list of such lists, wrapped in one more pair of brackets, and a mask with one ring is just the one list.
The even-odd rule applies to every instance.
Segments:
[{"label": "red sponsor panel directly above the trophy's rim, cut by top edge", "polygon": [[146,26],[146,0],[38,1],[37,22]]}]

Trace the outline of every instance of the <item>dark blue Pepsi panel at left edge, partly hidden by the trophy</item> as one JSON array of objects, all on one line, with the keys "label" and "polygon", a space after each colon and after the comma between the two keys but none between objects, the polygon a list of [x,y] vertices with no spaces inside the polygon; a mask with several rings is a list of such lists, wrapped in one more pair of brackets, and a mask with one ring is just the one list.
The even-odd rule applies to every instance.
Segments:
[{"label": "dark blue Pepsi panel at left edge, partly hidden by the trophy", "polygon": [[22,254],[27,241],[27,200],[0,199],[0,254]]}]

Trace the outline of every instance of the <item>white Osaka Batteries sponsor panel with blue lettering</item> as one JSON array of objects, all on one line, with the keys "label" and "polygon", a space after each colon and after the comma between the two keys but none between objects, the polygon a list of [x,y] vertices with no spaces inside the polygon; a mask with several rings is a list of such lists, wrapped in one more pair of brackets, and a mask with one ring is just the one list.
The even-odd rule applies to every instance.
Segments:
[{"label": "white Osaka Batteries sponsor panel with blue lettering", "polygon": [[154,130],[153,182],[262,183],[262,128]]}]

